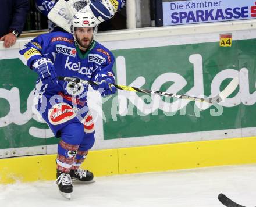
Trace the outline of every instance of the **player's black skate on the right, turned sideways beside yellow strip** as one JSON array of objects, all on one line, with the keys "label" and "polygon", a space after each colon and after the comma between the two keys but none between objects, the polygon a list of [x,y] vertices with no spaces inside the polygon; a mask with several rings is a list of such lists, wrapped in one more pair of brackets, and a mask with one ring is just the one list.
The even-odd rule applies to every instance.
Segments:
[{"label": "player's black skate on the right, turned sideways beside yellow strip", "polygon": [[93,183],[93,173],[89,170],[77,169],[70,170],[70,176],[74,183]]}]

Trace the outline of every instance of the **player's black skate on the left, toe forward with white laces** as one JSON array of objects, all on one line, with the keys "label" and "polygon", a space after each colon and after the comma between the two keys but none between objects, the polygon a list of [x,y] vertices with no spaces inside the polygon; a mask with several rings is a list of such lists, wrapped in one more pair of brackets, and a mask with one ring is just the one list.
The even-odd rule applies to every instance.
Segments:
[{"label": "player's black skate on the left, toe forward with white laces", "polygon": [[66,199],[71,198],[71,193],[73,192],[72,180],[69,173],[62,173],[57,170],[56,184],[59,187],[59,192]]}]

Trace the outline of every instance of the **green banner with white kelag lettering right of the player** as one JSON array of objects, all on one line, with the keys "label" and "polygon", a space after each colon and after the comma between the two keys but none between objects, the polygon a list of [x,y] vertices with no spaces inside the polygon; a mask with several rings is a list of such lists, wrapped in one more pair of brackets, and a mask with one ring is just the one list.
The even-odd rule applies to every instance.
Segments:
[{"label": "green banner with white kelag lettering right of the player", "polygon": [[[230,95],[226,104],[223,104],[223,109],[214,105],[200,109],[198,106],[201,103],[189,102],[184,107],[177,106],[177,109],[175,104],[169,104],[174,112],[166,112],[161,109],[161,103],[152,102],[151,96],[137,94],[142,97],[138,98],[142,104],[136,100],[133,105],[131,100],[134,97],[129,98],[127,95],[126,107],[129,112],[120,116],[113,113],[113,110],[111,115],[108,109],[113,108],[113,102],[106,102],[104,112],[108,121],[104,124],[105,138],[255,127],[255,44],[255,40],[240,40],[233,41],[232,47],[219,47],[219,42],[210,42],[113,51],[118,59],[122,56],[125,60],[123,68],[126,70],[120,73],[126,73],[128,85],[140,77],[145,79],[145,84],[133,86],[160,91],[168,91],[169,87],[174,90],[178,88],[170,92],[197,96],[204,94],[208,97],[211,95],[211,88],[220,87],[223,90],[231,78],[237,76],[240,78],[240,90],[237,88]],[[141,81],[137,83],[140,84]],[[162,100],[174,101],[166,98]],[[138,105],[146,111],[147,106],[152,109],[154,104],[157,107],[154,111],[150,110],[150,113],[138,110]],[[212,115],[211,110],[215,109],[221,114]]]}]

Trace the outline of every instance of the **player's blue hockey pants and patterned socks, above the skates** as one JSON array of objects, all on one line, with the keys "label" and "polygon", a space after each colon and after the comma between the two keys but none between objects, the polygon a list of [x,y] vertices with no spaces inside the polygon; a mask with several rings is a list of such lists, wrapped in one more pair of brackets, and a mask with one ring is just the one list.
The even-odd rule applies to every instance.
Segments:
[{"label": "player's blue hockey pants and patterned socks, above the skates", "polygon": [[95,141],[93,118],[88,107],[73,109],[72,104],[63,99],[55,105],[51,105],[49,101],[44,107],[38,104],[37,110],[55,136],[61,137],[57,169],[64,173],[78,169]]}]

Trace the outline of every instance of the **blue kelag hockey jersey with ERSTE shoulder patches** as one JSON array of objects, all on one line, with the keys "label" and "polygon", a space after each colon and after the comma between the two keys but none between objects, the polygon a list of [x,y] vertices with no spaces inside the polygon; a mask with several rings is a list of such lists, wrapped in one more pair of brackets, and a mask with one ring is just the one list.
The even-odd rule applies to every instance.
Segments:
[{"label": "blue kelag hockey jersey with ERSTE shoulder patches", "polygon": [[[86,53],[82,54],[73,35],[63,32],[42,34],[28,42],[20,50],[20,59],[31,68],[35,60],[49,58],[54,63],[57,76],[78,77],[84,80],[102,81],[111,78],[115,58],[103,45],[93,41]],[[58,81],[58,84],[43,84],[38,78],[35,95],[47,99],[61,95],[68,102],[78,106],[86,105],[88,86]],[[74,104],[74,103],[73,103]]]}]

